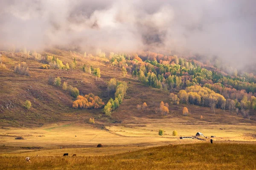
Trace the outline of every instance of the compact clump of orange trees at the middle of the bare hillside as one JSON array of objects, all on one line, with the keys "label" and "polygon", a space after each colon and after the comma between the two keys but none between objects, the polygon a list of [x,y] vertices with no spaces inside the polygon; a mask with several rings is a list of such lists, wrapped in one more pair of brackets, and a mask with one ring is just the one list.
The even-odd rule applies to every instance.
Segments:
[{"label": "compact clump of orange trees at the middle of the bare hillside", "polygon": [[99,96],[95,96],[94,94],[90,93],[84,96],[77,96],[76,101],[73,102],[73,108],[102,108],[104,102]]}]

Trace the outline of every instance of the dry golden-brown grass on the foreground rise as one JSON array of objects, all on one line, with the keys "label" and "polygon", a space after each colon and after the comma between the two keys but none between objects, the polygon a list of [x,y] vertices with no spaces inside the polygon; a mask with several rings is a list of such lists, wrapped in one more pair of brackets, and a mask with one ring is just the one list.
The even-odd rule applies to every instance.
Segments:
[{"label": "dry golden-brown grass on the foreground rise", "polygon": [[[99,150],[102,148],[98,148]],[[180,144],[112,156],[0,156],[2,170],[253,170],[254,144]]]}]

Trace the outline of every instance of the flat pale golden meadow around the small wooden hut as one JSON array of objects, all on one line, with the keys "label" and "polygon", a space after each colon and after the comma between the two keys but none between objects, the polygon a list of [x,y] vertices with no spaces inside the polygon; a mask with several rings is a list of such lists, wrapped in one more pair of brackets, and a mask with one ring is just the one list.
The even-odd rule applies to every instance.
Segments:
[{"label": "flat pale golden meadow around the small wooden hut", "polygon": [[[29,151],[27,149],[58,149],[60,146],[96,147],[99,143],[105,147],[142,147],[203,142],[197,139],[179,140],[179,136],[195,136],[198,131],[205,136],[216,136],[215,141],[256,142],[255,125],[215,125],[207,122],[195,124],[180,119],[165,119],[166,122],[162,119],[133,119],[133,123],[106,126],[103,129],[79,123],[58,123],[34,128],[2,128],[0,129],[0,153],[22,153]],[[164,130],[163,136],[158,135],[160,128]],[[173,130],[178,131],[178,136],[172,136]],[[15,140],[15,137],[19,136],[24,140]],[[205,142],[209,142],[209,139]]]}]

